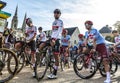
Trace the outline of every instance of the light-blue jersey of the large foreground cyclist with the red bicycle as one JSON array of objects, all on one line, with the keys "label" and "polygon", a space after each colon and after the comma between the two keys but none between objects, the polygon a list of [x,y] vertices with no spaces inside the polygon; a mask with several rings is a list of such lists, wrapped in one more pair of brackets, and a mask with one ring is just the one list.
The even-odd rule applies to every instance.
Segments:
[{"label": "light-blue jersey of the large foreground cyclist with the red bicycle", "polygon": [[105,39],[103,36],[99,33],[97,29],[92,28],[90,32],[85,33],[85,38],[88,40],[88,45],[93,45],[94,39],[96,39],[96,44],[102,44],[105,43]]}]

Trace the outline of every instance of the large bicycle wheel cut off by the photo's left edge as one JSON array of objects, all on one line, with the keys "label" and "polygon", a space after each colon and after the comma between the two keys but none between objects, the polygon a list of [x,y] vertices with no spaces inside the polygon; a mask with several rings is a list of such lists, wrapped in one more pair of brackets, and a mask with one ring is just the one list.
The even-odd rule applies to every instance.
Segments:
[{"label": "large bicycle wheel cut off by the photo's left edge", "polygon": [[15,53],[9,49],[0,48],[0,83],[11,80],[17,72],[17,68],[18,61]]}]

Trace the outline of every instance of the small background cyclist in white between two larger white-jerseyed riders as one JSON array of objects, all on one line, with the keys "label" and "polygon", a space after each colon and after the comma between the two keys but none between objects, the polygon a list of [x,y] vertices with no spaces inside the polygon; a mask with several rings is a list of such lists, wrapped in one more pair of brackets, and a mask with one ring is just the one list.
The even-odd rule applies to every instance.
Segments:
[{"label": "small background cyclist in white between two larger white-jerseyed riders", "polygon": [[42,31],[42,27],[39,27],[38,30],[39,35],[36,37],[36,46],[39,48],[39,50],[41,50],[45,46],[46,34]]}]

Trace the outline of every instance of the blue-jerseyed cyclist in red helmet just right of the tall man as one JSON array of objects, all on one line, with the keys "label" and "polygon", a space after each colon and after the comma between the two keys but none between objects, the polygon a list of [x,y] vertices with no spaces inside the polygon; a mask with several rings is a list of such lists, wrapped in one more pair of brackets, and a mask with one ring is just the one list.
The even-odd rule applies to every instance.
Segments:
[{"label": "blue-jerseyed cyclist in red helmet just right of the tall man", "polygon": [[68,63],[68,67],[70,67],[68,62],[69,48],[70,48],[70,35],[67,35],[67,34],[68,34],[68,31],[63,29],[62,38],[61,38],[61,52],[65,50],[65,55],[63,56],[65,60],[65,64]]}]

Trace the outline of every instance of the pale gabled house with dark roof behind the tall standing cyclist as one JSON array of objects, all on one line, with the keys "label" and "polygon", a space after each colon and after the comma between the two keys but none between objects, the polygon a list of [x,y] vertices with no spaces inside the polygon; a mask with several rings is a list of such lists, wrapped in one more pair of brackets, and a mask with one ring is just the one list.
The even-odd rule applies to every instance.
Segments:
[{"label": "pale gabled house with dark roof behind the tall standing cyclist", "polygon": [[[66,30],[68,30],[68,35],[71,36],[71,45],[74,45],[76,44],[76,42],[79,41],[78,39],[78,34],[80,34],[80,31],[78,29],[78,27],[71,27],[71,28],[65,28]],[[49,37],[52,33],[51,30],[47,30],[47,31],[44,31],[46,33],[46,36]]]}]

